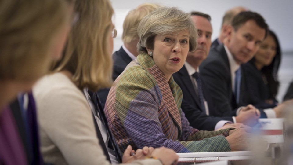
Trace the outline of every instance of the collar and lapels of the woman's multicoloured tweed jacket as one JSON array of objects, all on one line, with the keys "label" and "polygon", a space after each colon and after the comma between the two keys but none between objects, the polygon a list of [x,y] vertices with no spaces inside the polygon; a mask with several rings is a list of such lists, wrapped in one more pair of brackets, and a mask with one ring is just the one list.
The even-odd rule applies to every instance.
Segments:
[{"label": "collar and lapels of the woman's multicoloured tweed jacket", "polygon": [[137,56],[137,61],[156,80],[168,112],[175,121],[177,127],[179,127],[179,132],[181,132],[180,106],[183,95],[180,87],[174,81],[173,76],[171,76],[169,82],[167,82],[165,74],[158,68],[153,58],[147,53]]}]

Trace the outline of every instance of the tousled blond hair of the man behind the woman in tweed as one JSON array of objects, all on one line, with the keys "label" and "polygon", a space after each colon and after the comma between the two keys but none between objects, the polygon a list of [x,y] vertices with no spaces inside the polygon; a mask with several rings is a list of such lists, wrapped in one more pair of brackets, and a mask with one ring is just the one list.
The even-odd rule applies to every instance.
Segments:
[{"label": "tousled blond hair of the man behind the woman in tweed", "polygon": [[139,22],[143,19],[143,17],[158,7],[160,7],[160,5],[153,3],[143,3],[137,6],[135,9],[129,11],[123,22],[122,41],[129,43],[135,39],[139,39],[137,35],[137,27]]}]

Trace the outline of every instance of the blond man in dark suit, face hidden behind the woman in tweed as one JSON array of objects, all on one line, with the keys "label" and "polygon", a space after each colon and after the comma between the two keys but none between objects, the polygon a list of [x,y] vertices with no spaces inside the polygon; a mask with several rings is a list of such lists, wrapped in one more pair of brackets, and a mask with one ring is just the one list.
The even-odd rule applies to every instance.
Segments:
[{"label": "blond man in dark suit, face hidden behind the woman in tweed", "polygon": [[[112,55],[113,81],[115,81],[116,78],[124,71],[126,66],[132,60],[135,60],[136,57],[139,55],[136,47],[139,41],[139,37],[137,35],[137,27],[144,16],[152,12],[154,9],[157,9],[158,7],[160,6],[156,4],[144,3],[142,5],[139,5],[136,9],[129,11],[129,13],[125,17],[122,33],[123,45],[118,51],[114,52]],[[103,108],[105,107],[109,90],[110,88],[104,88],[97,92]]]}]

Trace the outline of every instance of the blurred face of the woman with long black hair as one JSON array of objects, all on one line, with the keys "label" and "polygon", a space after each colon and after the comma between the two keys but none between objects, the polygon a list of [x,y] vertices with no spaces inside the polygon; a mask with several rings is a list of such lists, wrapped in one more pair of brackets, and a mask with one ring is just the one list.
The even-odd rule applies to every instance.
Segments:
[{"label": "blurred face of the woman with long black hair", "polygon": [[268,66],[276,56],[277,44],[271,35],[268,35],[262,42],[259,51],[255,54],[255,63],[261,66]]}]

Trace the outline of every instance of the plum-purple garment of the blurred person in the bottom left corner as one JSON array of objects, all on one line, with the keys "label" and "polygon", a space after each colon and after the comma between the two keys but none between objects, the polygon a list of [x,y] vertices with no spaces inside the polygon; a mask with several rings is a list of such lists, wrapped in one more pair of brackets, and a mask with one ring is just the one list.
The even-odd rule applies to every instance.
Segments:
[{"label": "plum-purple garment of the blurred person in the bottom left corner", "polygon": [[9,107],[0,115],[0,164],[23,165],[27,160]]}]

